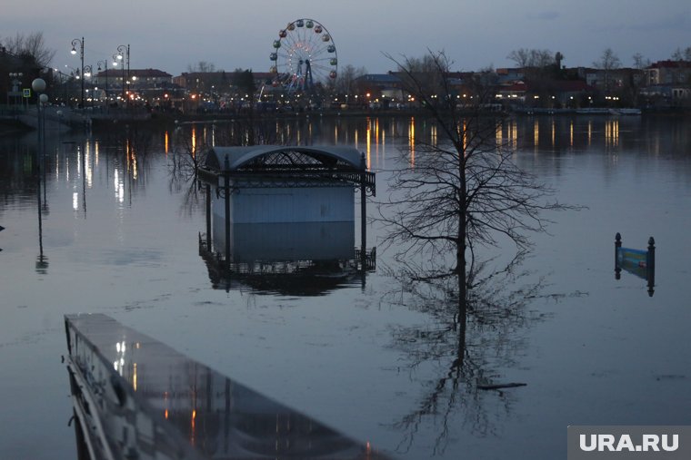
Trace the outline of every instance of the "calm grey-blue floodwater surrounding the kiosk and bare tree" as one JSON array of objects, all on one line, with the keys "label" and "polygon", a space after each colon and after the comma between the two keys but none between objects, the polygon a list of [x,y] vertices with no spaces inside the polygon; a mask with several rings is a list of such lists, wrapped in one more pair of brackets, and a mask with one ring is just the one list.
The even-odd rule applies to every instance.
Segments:
[{"label": "calm grey-blue floodwater surrounding the kiosk and bare tree", "polygon": [[[215,129],[195,125],[194,136]],[[401,149],[436,141],[432,124],[409,118],[313,117],[281,130],[366,152],[377,199]],[[0,139],[0,458],[75,458],[61,357],[64,315],[82,312],[394,458],[566,458],[569,425],[691,425],[687,119],[507,122],[497,137],[516,144],[516,162],[584,209],[548,216],[526,276],[496,295],[539,287],[506,318],[469,320],[460,349],[449,318],[387,276],[395,249],[378,250],[365,277],[318,289],[219,285],[199,251],[205,194],[172,171],[175,132],[124,132],[49,134],[38,176],[35,133]],[[370,222],[367,246],[382,232]],[[617,232],[639,250],[654,237],[652,296],[633,273],[615,279]],[[477,388],[486,382],[526,386]]]}]

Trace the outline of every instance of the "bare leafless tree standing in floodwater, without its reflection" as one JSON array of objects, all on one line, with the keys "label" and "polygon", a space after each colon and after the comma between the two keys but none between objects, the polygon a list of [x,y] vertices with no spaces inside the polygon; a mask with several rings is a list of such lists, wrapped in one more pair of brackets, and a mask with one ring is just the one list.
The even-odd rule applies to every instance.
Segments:
[{"label": "bare leafless tree standing in floodwater, without its reflection", "polygon": [[391,59],[406,91],[435,123],[436,140],[416,140],[415,161],[393,171],[392,197],[379,208],[388,230],[385,243],[398,248],[406,275],[451,289],[465,323],[473,308],[469,292],[493,276],[480,275],[486,260],[476,258],[477,248],[512,242],[515,257],[498,271],[511,270],[530,248],[527,234],[546,230],[542,212],[566,206],[547,201],[553,190],[516,166],[513,144],[498,139],[504,116],[493,111],[492,74],[463,82],[464,93],[472,96],[464,100],[472,103],[459,104],[443,52],[430,53],[427,73],[414,72],[410,59]]}]

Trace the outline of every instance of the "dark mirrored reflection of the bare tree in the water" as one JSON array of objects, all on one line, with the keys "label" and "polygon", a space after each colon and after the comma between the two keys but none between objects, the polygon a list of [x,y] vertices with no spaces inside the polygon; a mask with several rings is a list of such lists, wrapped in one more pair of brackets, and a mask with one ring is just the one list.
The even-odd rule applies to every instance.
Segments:
[{"label": "dark mirrored reflection of the bare tree in the water", "polygon": [[423,328],[394,329],[393,347],[406,353],[411,378],[423,370],[437,377],[423,383],[416,408],[392,424],[403,433],[399,452],[407,452],[430,426],[436,431],[432,455],[444,454],[461,430],[473,436],[499,434],[501,420],[510,416],[520,395],[519,388],[505,388],[525,385],[506,381],[501,369],[516,364],[527,348],[526,328],[545,318],[529,308],[530,302],[551,297],[543,294],[544,279],[529,280],[532,274],[519,270],[520,261],[471,289],[466,318],[457,315],[456,280],[411,284],[410,278],[402,279],[408,287],[406,306],[426,313],[430,321]]}]

